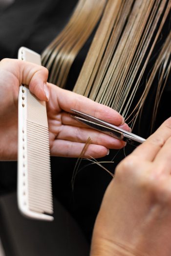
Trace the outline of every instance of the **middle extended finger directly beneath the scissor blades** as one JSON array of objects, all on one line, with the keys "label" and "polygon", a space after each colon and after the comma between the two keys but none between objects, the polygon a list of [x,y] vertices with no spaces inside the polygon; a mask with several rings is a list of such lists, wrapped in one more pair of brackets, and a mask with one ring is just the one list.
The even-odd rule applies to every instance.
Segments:
[{"label": "middle extended finger directly beneath the scissor blades", "polygon": [[125,146],[124,141],[89,128],[63,125],[60,130],[56,139],[85,143],[90,137],[92,144],[103,145],[106,148],[120,149]]}]

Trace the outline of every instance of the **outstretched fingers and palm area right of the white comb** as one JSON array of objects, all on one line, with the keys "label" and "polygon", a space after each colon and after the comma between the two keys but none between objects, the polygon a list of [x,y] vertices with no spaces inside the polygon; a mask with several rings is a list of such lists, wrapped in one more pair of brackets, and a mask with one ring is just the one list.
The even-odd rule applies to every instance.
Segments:
[{"label": "outstretched fingers and palm area right of the white comb", "polygon": [[[53,84],[47,84],[50,92],[47,102],[47,115],[50,132],[51,154],[57,156],[78,157],[87,141],[92,140],[84,157],[103,157],[108,148],[122,148],[125,142],[116,140],[71,117],[70,108],[96,116],[115,125],[121,125],[123,117],[107,106],[98,104],[82,95],[66,91]],[[129,130],[124,123],[122,128]]]}]

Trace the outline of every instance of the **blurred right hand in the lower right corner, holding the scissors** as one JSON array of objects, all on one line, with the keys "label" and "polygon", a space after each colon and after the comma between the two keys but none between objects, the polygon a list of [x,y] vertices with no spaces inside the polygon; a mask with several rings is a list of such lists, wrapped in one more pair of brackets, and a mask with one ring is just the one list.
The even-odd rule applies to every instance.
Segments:
[{"label": "blurred right hand in the lower right corner, holding the scissors", "polygon": [[171,117],[116,168],[91,256],[171,256]]}]

